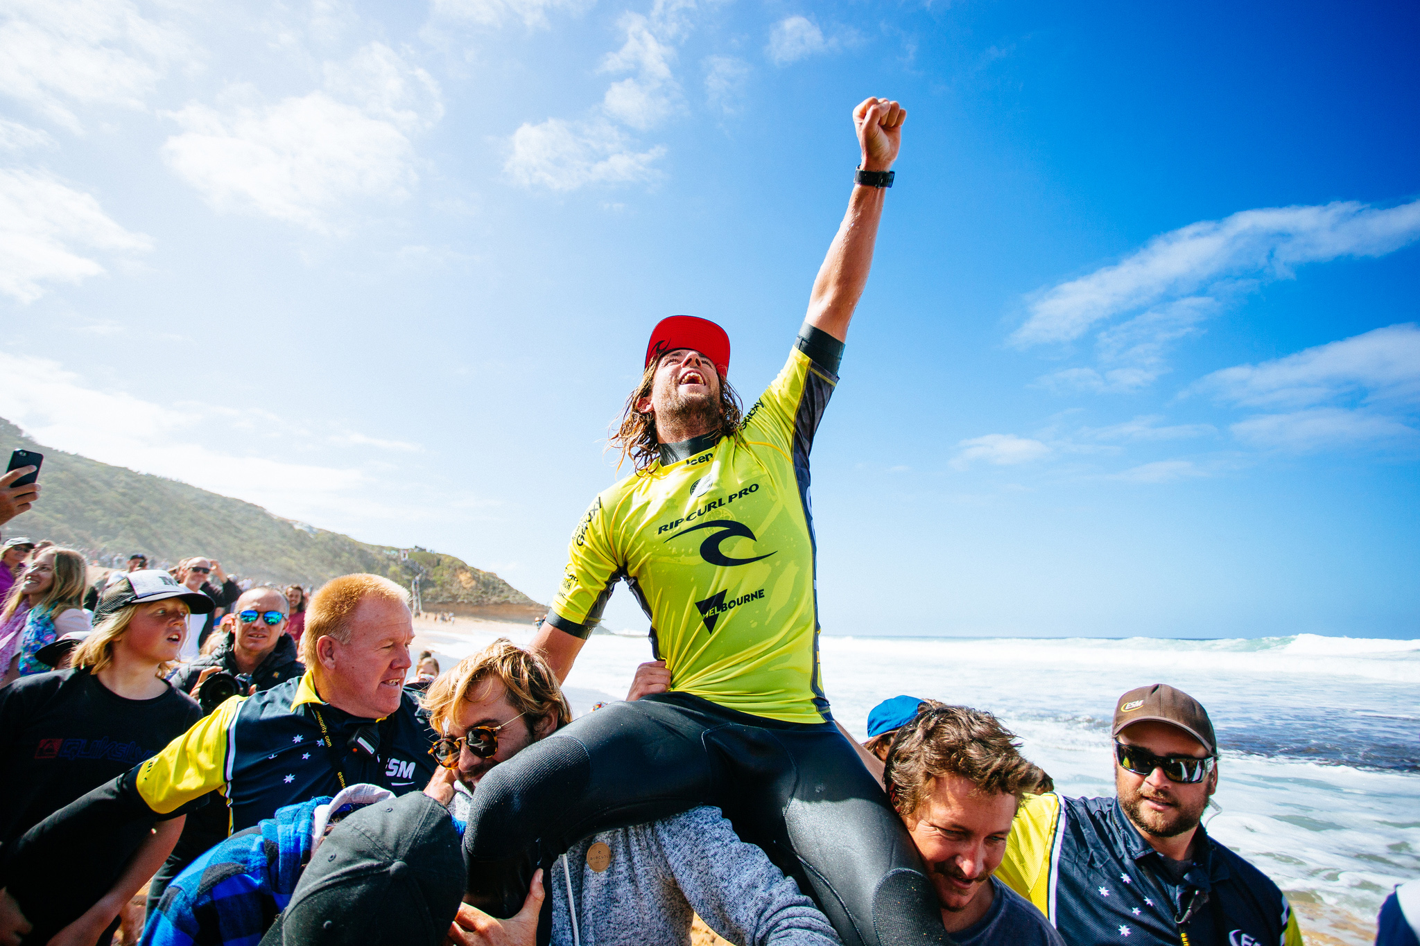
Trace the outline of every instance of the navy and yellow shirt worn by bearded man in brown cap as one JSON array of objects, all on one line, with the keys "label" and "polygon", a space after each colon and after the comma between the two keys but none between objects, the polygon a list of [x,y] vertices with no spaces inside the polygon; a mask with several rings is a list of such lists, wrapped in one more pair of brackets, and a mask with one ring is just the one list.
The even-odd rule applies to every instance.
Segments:
[{"label": "navy and yellow shirt worn by bearded man in brown cap", "polygon": [[1174,882],[1118,798],[1028,796],[995,877],[1069,946],[1302,946],[1277,884],[1198,831],[1203,855]]}]

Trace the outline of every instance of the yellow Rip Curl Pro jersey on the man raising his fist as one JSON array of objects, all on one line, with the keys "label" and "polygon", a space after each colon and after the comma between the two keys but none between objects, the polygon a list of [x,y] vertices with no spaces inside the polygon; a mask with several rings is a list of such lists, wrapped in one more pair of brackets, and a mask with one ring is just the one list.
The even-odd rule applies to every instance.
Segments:
[{"label": "yellow Rip Curl Pro jersey on the man raising his fist", "polygon": [[829,720],[808,454],[842,347],[805,325],[737,434],[663,444],[659,462],[596,496],[548,623],[585,638],[625,580],[672,689],[782,722]]}]

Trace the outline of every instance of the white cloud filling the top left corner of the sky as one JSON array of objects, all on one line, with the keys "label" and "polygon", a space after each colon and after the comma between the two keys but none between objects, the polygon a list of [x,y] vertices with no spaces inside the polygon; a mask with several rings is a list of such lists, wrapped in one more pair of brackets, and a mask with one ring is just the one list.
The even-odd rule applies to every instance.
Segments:
[{"label": "white cloud filling the top left corner of the sky", "polygon": [[168,67],[193,62],[187,37],[129,0],[7,0],[0,91],[70,130],[74,105],[141,109]]}]

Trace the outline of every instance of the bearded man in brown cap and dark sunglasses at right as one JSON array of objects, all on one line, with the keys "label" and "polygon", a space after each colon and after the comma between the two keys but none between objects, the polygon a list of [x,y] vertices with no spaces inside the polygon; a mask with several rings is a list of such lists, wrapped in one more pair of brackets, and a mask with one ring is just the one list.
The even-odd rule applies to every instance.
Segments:
[{"label": "bearded man in brown cap and dark sunglasses at right", "polygon": [[1213,722],[1167,684],[1115,703],[1113,798],[1030,797],[997,877],[1068,946],[1302,946],[1287,898],[1203,828],[1218,787]]}]

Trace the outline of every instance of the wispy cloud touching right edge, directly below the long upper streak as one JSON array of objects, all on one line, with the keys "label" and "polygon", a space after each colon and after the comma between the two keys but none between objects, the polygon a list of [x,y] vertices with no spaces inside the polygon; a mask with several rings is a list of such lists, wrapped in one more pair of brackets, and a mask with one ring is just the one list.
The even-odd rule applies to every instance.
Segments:
[{"label": "wispy cloud touching right edge, directly below the long upper streak", "polygon": [[1392,325],[1261,365],[1214,372],[1193,386],[1235,404],[1304,407],[1360,394],[1420,401],[1420,328]]}]

